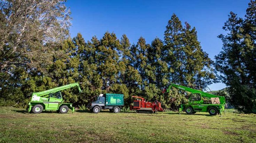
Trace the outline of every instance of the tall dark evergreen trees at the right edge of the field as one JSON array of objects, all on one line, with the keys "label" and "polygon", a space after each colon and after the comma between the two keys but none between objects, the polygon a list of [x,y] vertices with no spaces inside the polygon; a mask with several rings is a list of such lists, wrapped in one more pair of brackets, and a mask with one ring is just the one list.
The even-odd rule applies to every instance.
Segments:
[{"label": "tall dark evergreen trees at the right edge of the field", "polygon": [[215,57],[220,79],[227,85],[228,101],[240,111],[256,113],[256,2],[251,0],[245,19],[230,12],[218,37],[222,51]]}]

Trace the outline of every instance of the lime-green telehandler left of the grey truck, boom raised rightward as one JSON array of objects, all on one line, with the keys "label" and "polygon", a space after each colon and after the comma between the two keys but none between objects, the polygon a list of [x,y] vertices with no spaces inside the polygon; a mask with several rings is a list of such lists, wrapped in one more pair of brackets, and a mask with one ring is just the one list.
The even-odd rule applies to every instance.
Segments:
[{"label": "lime-green telehandler left of the grey truck, boom raised rightward", "polygon": [[77,87],[79,92],[82,92],[78,83],[71,83],[41,92],[33,92],[27,107],[28,112],[38,114],[42,110],[55,110],[58,113],[64,114],[71,109],[73,113],[75,108],[72,106],[72,103],[64,103],[60,91],[74,87]]}]

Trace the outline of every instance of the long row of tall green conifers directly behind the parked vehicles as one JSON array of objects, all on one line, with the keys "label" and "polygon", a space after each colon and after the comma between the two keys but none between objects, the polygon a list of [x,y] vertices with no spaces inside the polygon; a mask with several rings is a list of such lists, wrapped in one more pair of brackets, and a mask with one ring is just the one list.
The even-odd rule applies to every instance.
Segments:
[{"label": "long row of tall green conifers directly behind the parked vehicles", "polygon": [[[179,21],[175,15],[172,19],[176,19],[175,22]],[[170,24],[169,27],[171,26]],[[11,102],[6,102],[5,105],[14,105],[18,101],[20,103],[28,101],[31,92],[79,82],[83,93],[78,93],[76,89],[62,92],[65,101],[72,102],[76,107],[86,107],[100,93],[121,93],[124,94],[126,107],[131,104],[132,96],[141,96],[147,100],[161,101],[166,108],[177,110],[178,105],[186,100],[183,93],[177,90],[170,94],[162,94],[162,88],[168,86],[168,83],[174,81],[181,83],[183,82],[181,79],[186,79],[184,83],[200,85],[200,87],[211,83],[203,82],[208,80],[206,75],[209,72],[203,71],[202,68],[210,71],[211,63],[207,54],[201,50],[195,29],[191,29],[188,24],[186,30],[181,25],[179,27],[180,41],[174,38],[175,35],[169,35],[168,38],[173,38],[173,41],[167,42],[165,39],[167,44],[159,38],[147,44],[145,39],[140,37],[136,45],[131,45],[126,35],[119,40],[115,33],[109,32],[106,32],[101,39],[94,36],[91,41],[85,42],[82,34],[78,33],[73,39],[67,38],[55,46],[54,50],[46,51],[49,53],[47,59],[40,65],[35,65],[33,69],[15,68],[13,77],[5,77],[2,73],[7,79],[3,78],[2,84],[8,88],[0,89],[1,93],[4,92],[1,101],[8,100]],[[182,38],[184,36],[185,38]],[[194,40],[194,45],[186,45],[185,48],[185,45],[180,44],[183,49],[170,47],[174,43],[184,43],[185,39]],[[175,60],[179,58],[180,52],[183,53],[181,56],[184,57],[184,62]],[[190,65],[192,63],[187,62],[189,60],[193,61],[193,64],[200,65],[196,68],[192,67]],[[202,61],[205,64],[202,64]],[[181,66],[187,69],[180,71]],[[174,79],[181,75],[179,72],[184,73],[185,76]],[[13,79],[12,82],[10,79]],[[202,81],[199,82],[198,79]],[[13,89],[9,90],[10,86],[13,86]],[[13,94],[15,96],[8,97]],[[20,105],[24,107],[26,104]]]}]

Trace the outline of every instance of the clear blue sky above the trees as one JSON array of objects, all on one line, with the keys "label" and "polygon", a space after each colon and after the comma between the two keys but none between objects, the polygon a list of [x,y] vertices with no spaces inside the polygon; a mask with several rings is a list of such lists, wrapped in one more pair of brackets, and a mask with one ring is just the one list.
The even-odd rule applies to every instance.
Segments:
[{"label": "clear blue sky above the trees", "polygon": [[[84,39],[101,38],[106,31],[118,38],[126,34],[131,43],[140,36],[151,43],[156,37],[163,39],[165,26],[175,13],[181,22],[186,21],[197,30],[203,51],[214,60],[222,48],[217,36],[222,30],[230,11],[244,17],[249,0],[68,0],[65,5],[71,10],[71,37],[80,32]],[[217,83],[211,90],[225,88]]]}]

